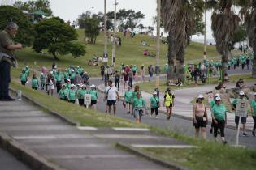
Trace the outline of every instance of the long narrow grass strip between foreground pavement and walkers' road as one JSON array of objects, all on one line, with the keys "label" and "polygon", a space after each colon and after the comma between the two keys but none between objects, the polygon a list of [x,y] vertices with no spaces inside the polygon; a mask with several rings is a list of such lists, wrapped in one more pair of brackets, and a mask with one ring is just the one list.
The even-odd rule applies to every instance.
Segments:
[{"label": "long narrow grass strip between foreground pavement and walkers' road", "polygon": [[96,126],[96,127],[145,127],[145,125],[137,125],[135,122],[113,117],[108,114],[99,113],[98,111],[79,107],[77,104],[70,104],[63,100],[47,96],[41,91],[34,91],[31,88],[24,87],[20,83],[11,83],[14,89],[20,89],[24,95],[32,100],[44,105],[46,108],[63,114],[72,121],[76,121],[79,125]]}]

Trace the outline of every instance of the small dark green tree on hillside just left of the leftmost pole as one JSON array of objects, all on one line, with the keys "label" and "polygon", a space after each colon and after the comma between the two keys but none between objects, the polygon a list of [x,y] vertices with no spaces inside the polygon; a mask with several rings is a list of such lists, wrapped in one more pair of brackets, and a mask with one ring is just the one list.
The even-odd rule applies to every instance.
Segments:
[{"label": "small dark green tree on hillside just left of the leftmost pole", "polygon": [[97,18],[85,19],[85,36],[89,37],[92,44],[96,43],[96,38],[99,35],[100,28]]}]

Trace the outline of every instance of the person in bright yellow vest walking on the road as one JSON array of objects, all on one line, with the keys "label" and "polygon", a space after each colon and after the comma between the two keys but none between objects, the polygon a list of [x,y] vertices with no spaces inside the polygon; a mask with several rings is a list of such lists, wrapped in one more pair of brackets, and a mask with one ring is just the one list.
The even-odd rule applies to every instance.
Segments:
[{"label": "person in bright yellow vest walking on the road", "polygon": [[171,113],[172,113],[172,107],[174,105],[174,98],[175,96],[171,94],[171,89],[167,88],[164,95],[164,101],[163,106],[167,108],[167,120],[170,120]]}]

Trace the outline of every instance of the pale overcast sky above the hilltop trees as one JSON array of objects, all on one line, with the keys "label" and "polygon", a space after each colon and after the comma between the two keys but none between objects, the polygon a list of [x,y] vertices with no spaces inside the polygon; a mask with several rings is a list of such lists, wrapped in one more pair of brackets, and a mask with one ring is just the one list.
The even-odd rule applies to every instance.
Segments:
[{"label": "pale overcast sky above the hilltop trees", "polygon": [[[15,2],[15,0],[0,0],[0,2]],[[156,15],[156,0],[117,0],[117,2],[117,11],[123,8],[141,11],[145,15],[141,23],[145,26],[153,25],[152,18]],[[114,3],[115,0],[106,0],[107,11],[114,11]],[[50,0],[50,7],[55,16],[72,22],[85,11],[103,12],[104,0]],[[210,14],[211,12],[207,12],[206,32],[207,38],[212,39]],[[193,39],[203,39],[203,36],[193,36]]]}]

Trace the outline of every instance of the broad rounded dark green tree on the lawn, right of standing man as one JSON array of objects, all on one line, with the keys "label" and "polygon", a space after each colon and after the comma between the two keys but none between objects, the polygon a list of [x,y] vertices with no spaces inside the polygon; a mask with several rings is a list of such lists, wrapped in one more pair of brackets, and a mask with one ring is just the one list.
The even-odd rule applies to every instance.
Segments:
[{"label": "broad rounded dark green tree on the lawn, right of standing man", "polygon": [[42,49],[48,49],[55,60],[59,60],[57,53],[72,53],[72,56],[79,57],[85,54],[85,49],[81,45],[72,42],[77,40],[76,30],[66,23],[63,19],[54,17],[44,19],[35,24],[36,36],[33,43],[33,49],[41,52]]}]

